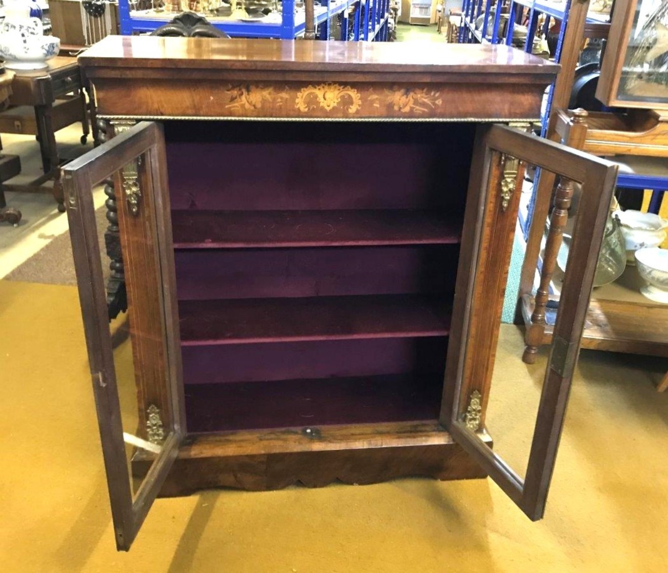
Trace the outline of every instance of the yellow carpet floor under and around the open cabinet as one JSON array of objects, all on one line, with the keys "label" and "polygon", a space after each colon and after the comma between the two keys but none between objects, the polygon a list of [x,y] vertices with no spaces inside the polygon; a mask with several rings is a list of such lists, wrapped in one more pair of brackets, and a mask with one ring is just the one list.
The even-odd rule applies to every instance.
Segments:
[{"label": "yellow carpet floor under and around the open cabinet", "polygon": [[[582,354],[542,522],[489,480],[221,490],[157,500],[123,554],[75,288],[0,281],[0,345],[2,573],[668,571],[665,360]],[[521,349],[504,326],[489,424],[513,461],[540,389]]]}]

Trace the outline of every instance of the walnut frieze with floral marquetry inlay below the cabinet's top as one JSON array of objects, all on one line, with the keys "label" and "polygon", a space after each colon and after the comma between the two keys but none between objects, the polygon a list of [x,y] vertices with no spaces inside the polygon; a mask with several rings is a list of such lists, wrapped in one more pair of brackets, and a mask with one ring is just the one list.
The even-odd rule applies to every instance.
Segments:
[{"label": "walnut frieze with floral marquetry inlay below the cabinet's top", "polygon": [[[94,74],[94,71],[86,73]],[[322,74],[310,81],[253,83],[193,77],[92,77],[98,116],[289,119],[535,119],[544,83],[492,84],[480,77],[452,83],[343,81]],[[131,95],[130,95],[131,94]]]}]

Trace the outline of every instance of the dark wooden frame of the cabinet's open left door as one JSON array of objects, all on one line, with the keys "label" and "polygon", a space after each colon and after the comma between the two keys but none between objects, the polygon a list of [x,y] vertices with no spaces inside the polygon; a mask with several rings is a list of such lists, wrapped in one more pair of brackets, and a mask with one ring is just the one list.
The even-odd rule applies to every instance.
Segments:
[{"label": "dark wooden frame of the cabinet's open left door", "polygon": [[[161,368],[164,370],[163,382],[170,400],[171,415],[162,450],[133,500],[92,189],[96,183],[118,173],[122,167],[140,156],[145,159],[138,169],[140,189],[142,193],[152,193],[154,200],[154,209],[145,209],[142,217],[152,219],[158,242],[155,263],[159,266],[163,283],[156,285],[156,290],[163,312],[161,320],[164,320],[166,332],[164,345],[167,357]],[[185,434],[178,312],[174,296],[174,253],[171,249],[172,230],[162,127],[156,123],[139,123],[67,163],[62,170],[62,181],[67,195],[67,217],[116,545],[120,550],[128,550],[176,459]]]}]

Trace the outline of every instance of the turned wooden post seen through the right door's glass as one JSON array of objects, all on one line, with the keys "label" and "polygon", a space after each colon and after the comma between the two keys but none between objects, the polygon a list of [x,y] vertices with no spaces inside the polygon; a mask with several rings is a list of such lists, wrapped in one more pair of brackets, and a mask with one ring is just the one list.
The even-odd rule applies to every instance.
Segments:
[{"label": "turned wooden post seen through the right door's glass", "polygon": [[531,315],[531,324],[526,330],[524,340],[526,347],[522,360],[526,364],[534,364],[538,347],[542,344],[542,337],[545,332],[545,308],[549,298],[550,280],[556,266],[556,255],[561,246],[564,234],[564,225],[568,218],[568,207],[573,197],[573,182],[566,177],[560,177],[559,184],[556,186],[554,194],[554,209],[550,216],[550,228],[548,230],[545,252],[543,257],[542,270],[540,271],[540,285],[536,291],[534,302],[534,312]]}]

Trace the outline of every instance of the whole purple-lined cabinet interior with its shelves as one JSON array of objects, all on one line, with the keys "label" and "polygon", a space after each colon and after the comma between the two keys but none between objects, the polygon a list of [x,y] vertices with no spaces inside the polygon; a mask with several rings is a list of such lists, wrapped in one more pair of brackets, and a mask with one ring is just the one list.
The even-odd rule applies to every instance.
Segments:
[{"label": "whole purple-lined cabinet interior with its shelves", "polygon": [[474,131],[165,123],[188,432],[438,418]]}]

